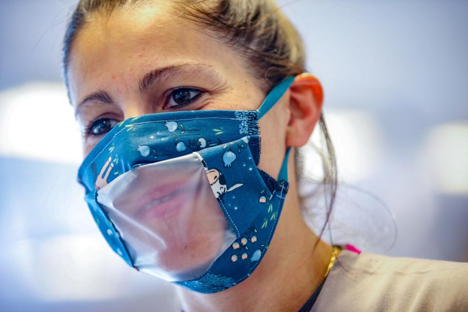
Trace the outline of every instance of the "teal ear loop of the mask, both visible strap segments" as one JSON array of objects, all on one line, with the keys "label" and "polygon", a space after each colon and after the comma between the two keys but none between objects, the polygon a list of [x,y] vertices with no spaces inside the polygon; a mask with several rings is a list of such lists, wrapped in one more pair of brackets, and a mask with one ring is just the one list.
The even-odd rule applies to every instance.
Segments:
[{"label": "teal ear loop of the mask, both visible strap segments", "polygon": [[[284,95],[286,90],[289,89],[289,87],[292,84],[292,81],[294,81],[294,76],[289,76],[288,78],[284,79],[277,85],[275,85],[270,91],[270,93],[267,95],[267,97],[263,100],[262,104],[260,107],[257,109],[258,112],[258,119],[263,117],[278,100]],[[281,169],[279,171],[279,175],[277,180],[278,181],[285,181],[288,182],[288,158],[289,158],[289,153],[291,152],[291,147],[288,147],[286,150],[286,155],[284,156],[283,159],[283,164],[281,165]]]}]

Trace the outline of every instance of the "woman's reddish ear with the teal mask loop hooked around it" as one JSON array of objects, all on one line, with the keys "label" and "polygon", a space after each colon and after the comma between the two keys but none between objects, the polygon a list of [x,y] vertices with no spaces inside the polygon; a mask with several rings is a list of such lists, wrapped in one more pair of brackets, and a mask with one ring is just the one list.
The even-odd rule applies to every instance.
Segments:
[{"label": "woman's reddish ear with the teal mask loop hooked around it", "polygon": [[294,78],[290,87],[290,120],[286,146],[301,147],[307,143],[320,118],[323,90],[320,81],[309,73]]}]

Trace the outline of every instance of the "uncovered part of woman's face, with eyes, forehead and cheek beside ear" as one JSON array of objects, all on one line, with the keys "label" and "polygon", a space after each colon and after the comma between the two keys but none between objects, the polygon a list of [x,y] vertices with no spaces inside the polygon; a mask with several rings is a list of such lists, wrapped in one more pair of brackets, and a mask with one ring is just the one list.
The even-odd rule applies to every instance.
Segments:
[{"label": "uncovered part of woman's face, with eyes, forehead and cheek beside ear", "polygon": [[[254,110],[266,96],[237,52],[159,3],[95,15],[78,33],[68,78],[85,156],[129,117]],[[278,104],[260,121],[259,167],[272,176],[285,150],[286,105]]]}]

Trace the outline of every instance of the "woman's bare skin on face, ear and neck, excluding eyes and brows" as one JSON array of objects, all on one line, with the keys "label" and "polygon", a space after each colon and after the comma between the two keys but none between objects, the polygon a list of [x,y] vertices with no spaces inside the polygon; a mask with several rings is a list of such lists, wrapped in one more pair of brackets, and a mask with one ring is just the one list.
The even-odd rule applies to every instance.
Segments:
[{"label": "woman's bare skin on face, ear and neck, excluding eyes and brows", "polygon": [[[157,2],[160,3],[160,2]],[[180,65],[141,92],[138,81],[149,71]],[[203,64],[203,65],[196,65]],[[236,52],[194,24],[177,18],[171,8],[148,4],[93,16],[79,32],[69,64],[69,88],[77,120],[85,129],[98,118],[119,122],[142,114],[170,111],[164,94],[174,87],[204,93],[175,110],[254,110],[266,94]],[[112,101],[83,99],[105,91]],[[170,93],[170,90],[169,90]],[[78,104],[79,107],[78,107]],[[260,119],[259,168],[277,176],[286,147],[303,146],[322,108],[321,88],[310,74],[295,78],[290,90]],[[86,131],[83,131],[86,132]],[[102,138],[83,134],[86,156]],[[302,218],[289,159],[290,190],[269,252],[242,283],[214,294],[177,287],[184,311],[297,311],[324,277],[331,246],[319,240]]]}]

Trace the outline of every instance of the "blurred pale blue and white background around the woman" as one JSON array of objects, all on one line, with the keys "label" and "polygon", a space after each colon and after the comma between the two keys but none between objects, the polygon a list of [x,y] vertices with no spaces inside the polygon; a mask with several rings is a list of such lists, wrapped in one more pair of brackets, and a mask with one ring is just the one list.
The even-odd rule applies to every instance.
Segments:
[{"label": "blurred pale blue and white background around the woman", "polygon": [[[80,138],[59,67],[76,2],[0,0],[0,310],[178,311],[171,284],[113,254],[76,182]],[[342,185],[332,232],[348,234],[333,237],[468,261],[468,2],[278,2],[325,90]]]}]

